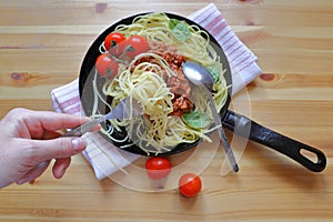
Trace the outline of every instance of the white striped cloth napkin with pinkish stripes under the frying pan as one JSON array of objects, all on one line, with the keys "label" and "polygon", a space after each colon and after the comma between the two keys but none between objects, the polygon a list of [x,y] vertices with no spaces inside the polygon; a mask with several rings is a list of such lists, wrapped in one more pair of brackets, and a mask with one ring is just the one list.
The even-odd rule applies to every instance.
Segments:
[{"label": "white striped cloth napkin with pinkish stripes under the frying pan", "polygon": [[[232,94],[262,72],[256,64],[256,57],[240,41],[213,3],[190,14],[189,18],[206,29],[223,48],[231,67]],[[78,88],[77,79],[52,90],[51,99],[56,112],[83,114]],[[83,155],[92,165],[98,180],[122,170],[139,158],[139,155],[115,148],[98,133],[85,133],[83,137],[88,142]]]}]

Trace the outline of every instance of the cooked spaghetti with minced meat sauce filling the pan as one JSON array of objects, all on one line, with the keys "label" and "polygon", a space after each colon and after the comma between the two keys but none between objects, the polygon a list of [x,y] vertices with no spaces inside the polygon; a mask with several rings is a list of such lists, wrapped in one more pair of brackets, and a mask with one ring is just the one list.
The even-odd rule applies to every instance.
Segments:
[{"label": "cooked spaghetti with minced meat sauce filling the pan", "polygon": [[[175,22],[178,30],[170,23]],[[178,23],[180,22],[180,24]],[[184,32],[180,33],[178,32]],[[124,127],[130,140],[145,152],[161,153],[172,150],[180,143],[192,143],[198,139],[211,141],[208,133],[211,124],[194,128],[183,115],[191,112],[206,115],[211,120],[209,104],[204,97],[198,95],[182,72],[186,60],[208,68],[214,77],[213,98],[218,110],[224,105],[228,97],[223,67],[219,54],[210,46],[209,34],[195,26],[183,21],[171,20],[164,13],[149,13],[137,17],[131,24],[120,24],[114,32],[125,38],[142,36],[149,43],[149,50],[128,60],[125,57],[118,65],[114,79],[108,79],[102,93],[113,98],[110,108],[129,97],[137,100],[142,115],[129,120],[112,120],[112,130]],[[117,47],[117,46],[115,46]],[[104,44],[101,53],[109,53]],[[95,83],[94,87],[97,88]],[[95,101],[102,98],[95,89]],[[97,105],[93,115],[97,115]],[[103,131],[111,137],[111,131]],[[111,139],[115,140],[111,137]]]}]

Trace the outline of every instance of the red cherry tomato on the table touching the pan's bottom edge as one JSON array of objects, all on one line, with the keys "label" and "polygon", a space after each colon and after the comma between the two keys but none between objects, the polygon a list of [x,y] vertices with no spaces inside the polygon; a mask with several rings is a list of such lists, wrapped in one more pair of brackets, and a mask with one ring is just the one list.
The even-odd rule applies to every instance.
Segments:
[{"label": "red cherry tomato on the table touching the pan's bottom edge", "polygon": [[169,175],[171,162],[165,158],[150,158],[145,162],[147,174],[152,180],[161,180]]}]

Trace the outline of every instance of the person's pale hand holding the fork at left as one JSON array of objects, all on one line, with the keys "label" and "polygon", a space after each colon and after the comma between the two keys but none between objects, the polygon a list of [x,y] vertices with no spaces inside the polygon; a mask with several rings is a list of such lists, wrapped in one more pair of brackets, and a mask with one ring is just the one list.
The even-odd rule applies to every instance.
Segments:
[{"label": "person's pale hand holding the fork at left", "polygon": [[77,128],[89,120],[51,111],[11,110],[0,121],[0,188],[33,181],[51,160],[56,160],[53,176],[62,178],[71,157],[85,149],[85,141],[61,138],[60,130]]}]

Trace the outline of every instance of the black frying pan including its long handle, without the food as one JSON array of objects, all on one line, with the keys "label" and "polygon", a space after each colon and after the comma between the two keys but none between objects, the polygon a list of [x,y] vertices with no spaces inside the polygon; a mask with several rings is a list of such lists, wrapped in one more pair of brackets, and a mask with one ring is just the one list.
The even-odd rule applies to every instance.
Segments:
[{"label": "black frying pan including its long handle, without the food", "polygon": [[[199,26],[198,23],[195,23],[184,17],[173,14],[173,13],[167,13],[167,14],[170,18],[184,20],[189,24],[195,24],[199,28],[201,28],[202,30],[204,30],[201,26]],[[80,71],[80,78],[79,78],[80,98],[81,98],[83,111],[85,112],[87,115],[91,115],[91,113],[92,113],[92,101],[93,101],[92,80],[94,78],[94,72],[95,72],[94,63],[95,63],[98,56],[100,54],[100,52],[99,52],[100,44],[104,41],[105,37],[114,30],[114,28],[117,26],[130,24],[130,23],[132,23],[132,20],[138,16],[140,16],[140,14],[134,14],[134,16],[124,18],[124,19],[113,23],[105,31],[103,31],[94,40],[92,46],[89,48],[89,50],[83,59],[83,62],[81,65],[81,71]],[[216,47],[216,46],[219,46],[219,43],[212,36],[210,36],[210,40],[212,42],[212,46],[213,47],[215,46],[214,49],[220,54],[221,62],[223,63],[223,67],[226,69],[226,72],[224,73],[226,83],[228,83],[228,85],[232,85],[231,84],[232,83],[231,82],[232,81],[231,71],[230,71],[230,67],[229,67],[226,57],[225,57],[223,50],[220,47]],[[98,82],[98,85],[100,85],[98,88],[101,89],[101,85],[103,84],[104,79],[98,77],[97,82]],[[229,93],[231,93],[231,88],[229,89]],[[104,98],[104,99],[109,100],[109,101],[112,100],[112,98]],[[220,112],[220,114],[222,117],[223,127],[235,132],[236,134],[246,137],[252,141],[264,144],[269,148],[276,150],[278,152],[285,154],[286,157],[295,160],[296,162],[301,163],[302,165],[304,165],[305,168],[307,168],[311,171],[320,172],[325,169],[326,158],[323,152],[321,152],[320,150],[317,150],[315,148],[309,147],[309,145],[297,142],[293,139],[284,137],[280,133],[276,133],[265,127],[258,124],[256,122],[250,120],[246,117],[240,115],[238,113],[234,113],[234,112],[228,110],[230,102],[231,102],[231,99],[229,97],[225,102],[225,105],[223,107],[223,109]],[[105,108],[105,105],[102,104],[102,102],[99,103],[98,109],[101,113],[107,113],[109,111],[108,108]],[[103,123],[102,127],[107,129],[105,123]],[[242,129],[244,129],[244,130],[242,130]],[[115,142],[115,141],[112,141],[109,137],[104,135],[103,133],[101,133],[101,135],[104,137],[110,142],[114,143],[117,147],[130,144],[129,140],[123,140],[122,142]],[[127,131],[122,130],[121,132],[113,132],[112,137],[117,138],[119,140],[122,140],[127,137]],[[159,155],[171,155],[171,154],[180,153],[180,152],[183,152],[191,148],[194,148],[199,142],[200,141],[195,141],[193,143],[181,143],[178,147],[175,147],[174,149],[172,149],[171,151],[160,153]],[[135,154],[141,154],[141,155],[149,155],[149,154],[155,155],[155,153],[147,153],[145,151],[142,151],[142,149],[140,149],[137,145],[129,145],[127,148],[123,148],[122,150],[125,150],[128,152],[135,153]],[[301,153],[302,150],[305,150],[307,153],[312,153],[313,155],[315,155],[316,161],[313,162],[311,159],[303,155]]]}]

